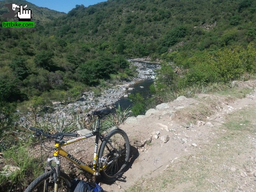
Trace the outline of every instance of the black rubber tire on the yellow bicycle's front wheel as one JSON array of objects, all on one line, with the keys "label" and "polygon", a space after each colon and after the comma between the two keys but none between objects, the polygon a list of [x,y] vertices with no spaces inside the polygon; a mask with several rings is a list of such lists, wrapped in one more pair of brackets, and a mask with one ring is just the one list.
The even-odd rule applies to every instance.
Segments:
[{"label": "black rubber tire on the yellow bicycle's front wheel", "polygon": [[[51,171],[45,172],[42,175],[38,176],[30,185],[26,188],[24,192],[33,192],[36,190],[36,188],[43,183],[45,180],[50,178],[51,176]],[[67,192],[71,192],[71,180],[68,177],[68,175],[64,172],[60,172],[60,179],[64,180],[67,184]],[[54,182],[52,183],[54,184]],[[63,191],[62,189],[59,188],[59,191]]]}]

